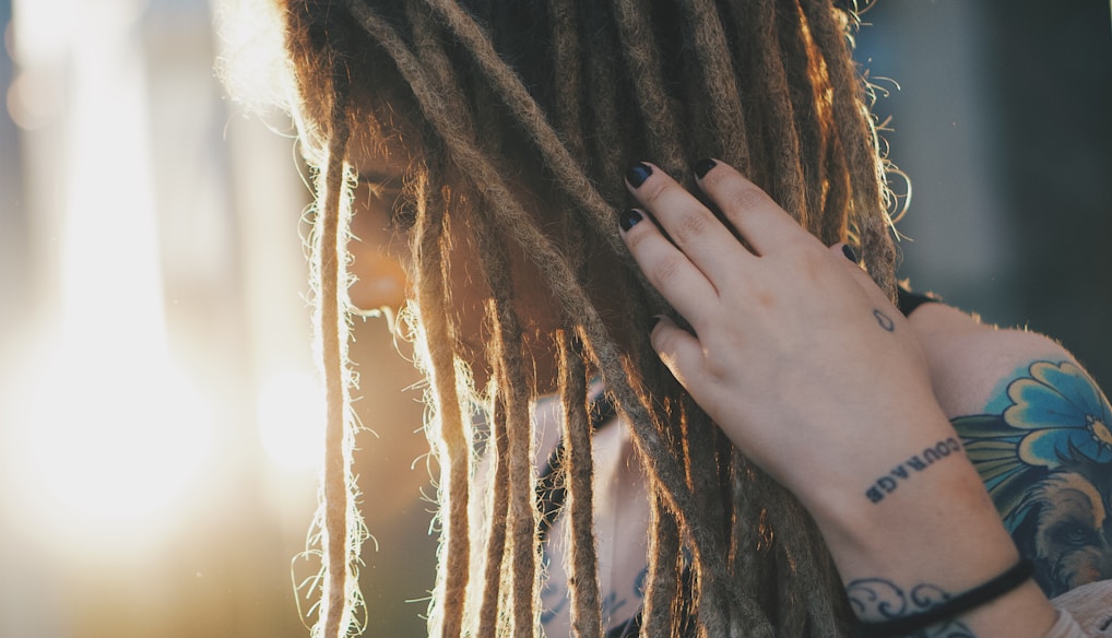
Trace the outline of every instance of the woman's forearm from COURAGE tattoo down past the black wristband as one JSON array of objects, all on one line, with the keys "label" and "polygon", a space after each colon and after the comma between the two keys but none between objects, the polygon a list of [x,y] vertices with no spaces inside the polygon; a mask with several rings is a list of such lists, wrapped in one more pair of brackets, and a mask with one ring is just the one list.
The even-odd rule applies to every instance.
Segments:
[{"label": "woman's forearm from COURAGE tattoo down past the black wristband", "polygon": [[[923,430],[949,428],[941,411],[923,418],[933,421]],[[804,497],[863,622],[919,617],[1019,564],[976,471],[955,448],[952,437],[913,446],[886,469],[874,469],[883,473],[864,479],[860,490]],[[852,473],[871,476],[864,468]],[[930,625],[925,635],[1045,636],[1056,618],[1053,607],[1030,578],[1014,581],[1022,584],[1004,584],[1003,594],[974,594],[972,608]]]}]

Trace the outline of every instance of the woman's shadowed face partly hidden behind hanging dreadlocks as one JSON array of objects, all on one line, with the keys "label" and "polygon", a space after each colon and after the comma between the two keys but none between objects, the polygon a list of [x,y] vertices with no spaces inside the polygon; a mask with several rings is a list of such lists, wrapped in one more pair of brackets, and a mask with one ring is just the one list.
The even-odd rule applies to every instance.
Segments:
[{"label": "woman's shadowed face partly hidden behind hanging dreadlocks", "polygon": [[[354,144],[349,154],[360,179],[351,220],[356,239],[349,245],[351,271],[357,281],[348,292],[358,308],[397,310],[407,299],[416,297],[408,238],[411,220],[405,219],[408,213],[399,206],[408,160],[401,149],[388,147],[368,151]],[[536,219],[544,219],[540,209],[544,205],[538,197],[520,186],[515,187],[515,195],[536,209]],[[466,223],[466,212],[453,212],[456,228],[447,256],[451,296],[448,312],[459,329],[465,350],[460,355],[471,367],[476,387],[481,388],[488,379],[484,337],[488,330],[485,306],[490,291],[470,232],[458,228]],[[525,373],[537,391],[549,392],[555,390],[555,346],[550,336],[558,323],[558,305],[525,251],[509,242],[508,258],[515,309],[525,339]]]}]

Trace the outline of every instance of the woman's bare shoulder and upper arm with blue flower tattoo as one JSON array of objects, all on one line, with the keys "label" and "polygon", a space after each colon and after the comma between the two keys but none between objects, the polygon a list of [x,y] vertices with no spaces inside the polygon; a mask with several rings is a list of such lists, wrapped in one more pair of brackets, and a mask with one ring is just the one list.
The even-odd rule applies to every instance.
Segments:
[{"label": "woman's bare shoulder and upper arm with blue flower tattoo", "polygon": [[1049,596],[1112,578],[1112,407],[1061,345],[941,303],[909,318],[935,396]]}]

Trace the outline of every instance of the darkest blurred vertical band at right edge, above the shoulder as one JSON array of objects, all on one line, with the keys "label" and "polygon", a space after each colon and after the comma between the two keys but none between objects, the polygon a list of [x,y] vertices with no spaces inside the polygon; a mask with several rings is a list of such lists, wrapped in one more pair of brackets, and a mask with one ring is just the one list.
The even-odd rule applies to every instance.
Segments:
[{"label": "darkest blurred vertical band at right edge, above the shoulder", "polygon": [[1112,386],[1112,36],[1103,0],[995,0],[985,33],[1022,311]]}]

